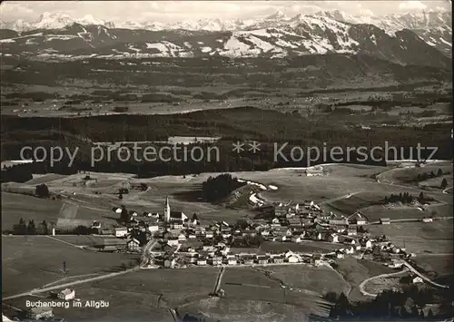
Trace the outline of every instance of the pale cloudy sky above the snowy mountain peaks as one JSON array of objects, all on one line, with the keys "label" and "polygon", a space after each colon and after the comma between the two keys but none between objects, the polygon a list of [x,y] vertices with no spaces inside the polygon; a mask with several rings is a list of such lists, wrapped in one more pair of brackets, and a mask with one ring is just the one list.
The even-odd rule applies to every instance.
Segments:
[{"label": "pale cloudy sky above the snowy mountain peaks", "polygon": [[77,19],[122,23],[175,22],[201,18],[261,18],[282,11],[286,15],[311,15],[321,10],[341,10],[350,15],[387,15],[421,10],[451,10],[449,0],[433,1],[3,1],[2,21],[35,22],[44,12]]}]

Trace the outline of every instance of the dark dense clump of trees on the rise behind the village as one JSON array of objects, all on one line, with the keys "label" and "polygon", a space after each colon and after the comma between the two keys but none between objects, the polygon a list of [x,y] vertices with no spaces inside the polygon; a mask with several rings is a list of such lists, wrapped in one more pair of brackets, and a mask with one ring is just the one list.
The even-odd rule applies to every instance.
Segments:
[{"label": "dark dense clump of trees on the rise behind the village", "polygon": [[217,177],[210,177],[202,182],[202,197],[204,200],[214,202],[227,197],[233,190],[245,185],[239,182],[229,173],[220,174]]}]

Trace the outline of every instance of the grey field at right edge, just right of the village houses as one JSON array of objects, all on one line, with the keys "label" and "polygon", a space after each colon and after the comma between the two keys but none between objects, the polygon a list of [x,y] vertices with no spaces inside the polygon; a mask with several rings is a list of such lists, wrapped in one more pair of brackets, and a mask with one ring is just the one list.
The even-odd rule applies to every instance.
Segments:
[{"label": "grey field at right edge, just right of the village houses", "polygon": [[415,254],[452,253],[453,220],[433,222],[393,222],[390,225],[372,225],[370,233],[385,235],[397,247],[405,247]]}]

